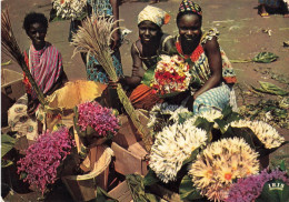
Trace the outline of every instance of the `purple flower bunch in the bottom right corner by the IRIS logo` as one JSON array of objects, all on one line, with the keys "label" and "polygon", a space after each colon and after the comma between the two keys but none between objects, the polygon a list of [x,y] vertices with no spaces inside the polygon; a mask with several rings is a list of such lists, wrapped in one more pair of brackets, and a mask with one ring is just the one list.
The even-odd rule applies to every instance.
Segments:
[{"label": "purple flower bunch in the bottom right corner by the IRIS logo", "polygon": [[270,172],[269,169],[265,169],[259,174],[239,179],[237,183],[233,183],[230,186],[229,196],[226,202],[251,202],[261,194],[263,184],[273,179],[282,180],[289,184],[286,172],[280,170]]}]

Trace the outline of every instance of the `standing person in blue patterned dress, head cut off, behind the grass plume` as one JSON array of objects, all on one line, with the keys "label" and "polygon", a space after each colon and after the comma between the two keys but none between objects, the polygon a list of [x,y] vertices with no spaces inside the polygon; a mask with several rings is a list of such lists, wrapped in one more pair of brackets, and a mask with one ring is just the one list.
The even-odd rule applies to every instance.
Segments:
[{"label": "standing person in blue patterned dress, head cut off, behind the grass plume", "polygon": [[[113,16],[114,20],[119,20],[119,0],[88,0],[88,16],[91,16],[92,12],[110,17]],[[81,27],[80,20],[73,20],[70,23],[69,41],[72,40],[72,33],[76,33],[78,28]],[[119,28],[119,23],[114,24],[114,29]],[[123,75],[121,57],[119,47],[121,44],[120,30],[117,30],[112,33],[111,49],[113,53],[111,54],[113,65],[118,77]],[[97,81],[101,83],[109,83],[109,78],[103,68],[99,64],[93,55],[89,55],[87,61],[87,55],[81,54],[81,58],[86,64],[87,78],[90,81]]]}]

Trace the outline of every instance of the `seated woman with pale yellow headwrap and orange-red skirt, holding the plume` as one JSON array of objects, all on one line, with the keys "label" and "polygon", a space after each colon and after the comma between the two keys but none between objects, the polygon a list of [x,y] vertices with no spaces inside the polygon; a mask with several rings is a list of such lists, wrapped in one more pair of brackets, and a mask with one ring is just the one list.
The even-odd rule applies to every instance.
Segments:
[{"label": "seated woman with pale yellow headwrap and orange-red skirt, holding the plume", "polygon": [[139,39],[131,46],[132,75],[121,81],[131,88],[137,87],[130,94],[130,101],[137,109],[150,110],[156,103],[162,102],[152,89],[141,84],[141,81],[147,70],[156,68],[158,55],[169,52],[173,47],[173,43],[169,43],[172,37],[161,30],[169,19],[170,16],[166,11],[151,6],[147,6],[138,16]]}]

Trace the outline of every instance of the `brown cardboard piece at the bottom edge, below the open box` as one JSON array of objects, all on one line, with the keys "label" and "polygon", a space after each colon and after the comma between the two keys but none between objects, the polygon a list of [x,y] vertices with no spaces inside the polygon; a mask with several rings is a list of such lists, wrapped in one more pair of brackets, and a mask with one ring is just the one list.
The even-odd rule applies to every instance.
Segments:
[{"label": "brown cardboard piece at the bottom edge, below the open box", "polygon": [[113,190],[108,192],[109,196],[121,202],[133,202],[127,181],[118,184]]}]

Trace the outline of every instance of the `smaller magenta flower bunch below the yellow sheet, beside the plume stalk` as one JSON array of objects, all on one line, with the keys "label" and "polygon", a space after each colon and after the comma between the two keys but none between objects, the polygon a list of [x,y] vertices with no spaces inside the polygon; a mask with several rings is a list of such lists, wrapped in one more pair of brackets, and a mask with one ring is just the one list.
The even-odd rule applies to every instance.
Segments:
[{"label": "smaller magenta flower bunch below the yellow sheet, beside the plume stalk", "polygon": [[97,135],[107,137],[110,132],[117,133],[119,120],[111,109],[101,107],[98,102],[84,102],[78,105],[78,125],[81,131],[87,127],[96,130]]}]

